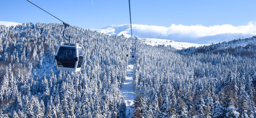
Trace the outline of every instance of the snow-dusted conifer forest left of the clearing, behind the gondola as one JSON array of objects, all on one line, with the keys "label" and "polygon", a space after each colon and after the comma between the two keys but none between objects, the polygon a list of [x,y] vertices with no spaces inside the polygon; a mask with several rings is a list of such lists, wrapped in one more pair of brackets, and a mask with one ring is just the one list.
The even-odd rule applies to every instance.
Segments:
[{"label": "snow-dusted conifer forest left of the clearing, behind the gondola", "polygon": [[61,24],[0,26],[0,114],[10,118],[124,117],[119,97],[131,41],[91,30],[68,28],[83,47],[81,72],[54,70]]}]

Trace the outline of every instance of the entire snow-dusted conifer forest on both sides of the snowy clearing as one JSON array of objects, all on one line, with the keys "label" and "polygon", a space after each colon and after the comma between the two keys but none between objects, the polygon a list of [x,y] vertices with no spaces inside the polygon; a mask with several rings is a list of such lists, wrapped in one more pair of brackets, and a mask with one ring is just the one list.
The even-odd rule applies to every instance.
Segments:
[{"label": "entire snow-dusted conifer forest on both sides of the snowy clearing", "polygon": [[[0,25],[0,118],[126,118],[131,39],[76,28],[88,35],[66,35],[84,60],[66,72],[54,65],[61,24]],[[135,40],[132,83],[133,118],[255,118],[256,36],[186,49]]]}]

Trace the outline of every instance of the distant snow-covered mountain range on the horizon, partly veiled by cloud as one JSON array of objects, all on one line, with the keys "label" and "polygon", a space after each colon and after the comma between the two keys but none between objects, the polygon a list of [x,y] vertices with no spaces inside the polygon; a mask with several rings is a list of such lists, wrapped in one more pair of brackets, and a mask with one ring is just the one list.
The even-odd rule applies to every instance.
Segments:
[{"label": "distant snow-covered mountain range on the horizon, partly veiled by cloud", "polygon": [[[157,39],[167,39],[179,42],[197,43],[197,44],[211,44],[211,43],[221,43],[223,41],[230,41],[239,38],[249,38],[253,37],[250,34],[243,33],[220,33],[217,35],[209,35],[205,37],[192,37],[189,33],[179,34],[167,32],[167,27],[162,26],[147,26],[132,24],[133,35],[142,38],[157,38]],[[98,32],[106,33],[109,35],[124,35],[125,37],[131,37],[130,24],[118,25],[118,26],[107,26],[102,29],[93,29]],[[174,31],[173,31],[174,32]]]}]

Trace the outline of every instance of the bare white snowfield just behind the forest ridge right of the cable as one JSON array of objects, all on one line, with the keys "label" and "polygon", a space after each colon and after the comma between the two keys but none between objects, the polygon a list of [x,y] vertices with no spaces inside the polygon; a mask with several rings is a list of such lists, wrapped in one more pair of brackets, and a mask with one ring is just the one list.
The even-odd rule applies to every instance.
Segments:
[{"label": "bare white snowfield just behind the forest ridge right of the cable", "polygon": [[173,40],[159,39],[159,38],[138,38],[138,40],[153,46],[154,45],[165,45],[165,46],[170,45],[176,49],[184,49],[192,46],[199,47],[204,45],[204,44],[196,44],[196,43],[177,42]]}]

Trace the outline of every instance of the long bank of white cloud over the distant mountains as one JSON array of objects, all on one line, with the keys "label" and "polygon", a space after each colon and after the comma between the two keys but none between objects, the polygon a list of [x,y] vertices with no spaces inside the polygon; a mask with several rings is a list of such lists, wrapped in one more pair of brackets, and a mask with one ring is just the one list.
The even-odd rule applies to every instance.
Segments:
[{"label": "long bank of white cloud over the distant mountains", "polygon": [[175,25],[170,27],[148,26],[133,24],[133,30],[136,33],[159,33],[162,35],[190,35],[191,37],[204,37],[208,35],[216,35],[219,33],[245,33],[256,35],[256,22],[249,22],[246,26],[232,26],[230,24],[202,26],[202,25]]}]

